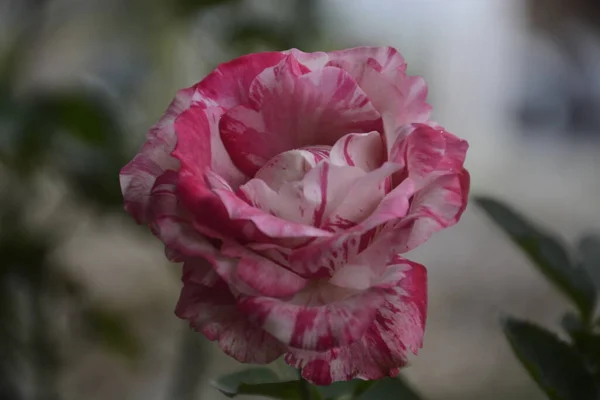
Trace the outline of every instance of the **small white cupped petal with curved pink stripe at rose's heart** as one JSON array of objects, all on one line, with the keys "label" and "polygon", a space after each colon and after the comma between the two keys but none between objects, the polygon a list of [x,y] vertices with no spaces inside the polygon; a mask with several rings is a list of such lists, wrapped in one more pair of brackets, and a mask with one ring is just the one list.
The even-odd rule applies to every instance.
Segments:
[{"label": "small white cupped petal with curved pink stripe at rose's heart", "polygon": [[359,167],[372,171],[385,159],[385,146],[379,132],[349,133],[339,139],[331,149],[331,163]]}]

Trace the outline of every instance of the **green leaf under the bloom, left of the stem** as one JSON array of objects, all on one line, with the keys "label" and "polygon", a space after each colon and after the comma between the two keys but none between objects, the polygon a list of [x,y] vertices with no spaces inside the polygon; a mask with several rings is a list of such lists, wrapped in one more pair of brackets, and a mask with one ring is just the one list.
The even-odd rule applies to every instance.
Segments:
[{"label": "green leaf under the bloom, left of the stem", "polygon": [[253,394],[281,400],[300,399],[300,381],[280,382],[269,368],[249,368],[223,376],[212,382],[227,397]]}]

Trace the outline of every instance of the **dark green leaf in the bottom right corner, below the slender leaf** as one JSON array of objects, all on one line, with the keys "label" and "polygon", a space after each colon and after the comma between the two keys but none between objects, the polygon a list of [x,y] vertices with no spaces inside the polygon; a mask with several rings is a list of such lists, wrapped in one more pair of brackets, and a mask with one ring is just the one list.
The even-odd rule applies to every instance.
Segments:
[{"label": "dark green leaf in the bottom right corner, below the slender leaf", "polygon": [[552,332],[506,318],[503,328],[523,366],[552,400],[594,399],[596,384],[575,349]]}]

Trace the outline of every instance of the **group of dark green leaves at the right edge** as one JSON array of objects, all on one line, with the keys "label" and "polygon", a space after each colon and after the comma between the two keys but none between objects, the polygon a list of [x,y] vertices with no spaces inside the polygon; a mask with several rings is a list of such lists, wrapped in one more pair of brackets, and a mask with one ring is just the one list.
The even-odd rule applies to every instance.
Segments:
[{"label": "group of dark green leaves at the right edge", "polygon": [[600,241],[587,235],[569,249],[554,234],[501,201],[478,197],[477,204],[575,306],[561,325],[568,341],[517,318],[503,320],[504,333],[519,361],[551,400],[595,400],[600,396]]}]

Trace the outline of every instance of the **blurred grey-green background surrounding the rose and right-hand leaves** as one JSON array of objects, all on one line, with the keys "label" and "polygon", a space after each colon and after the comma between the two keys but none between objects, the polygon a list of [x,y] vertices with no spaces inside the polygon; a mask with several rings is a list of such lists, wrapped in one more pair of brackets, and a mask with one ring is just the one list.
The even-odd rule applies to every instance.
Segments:
[{"label": "blurred grey-green background surrounding the rose and right-hand leaves", "polygon": [[[392,45],[469,140],[473,193],[574,241],[600,228],[595,0],[0,0],[0,400],[223,398],[239,367],[173,314],[177,265],[119,169],[179,88],[243,53]],[[542,399],[502,336],[566,303],[475,206],[429,268],[425,398]]]}]

